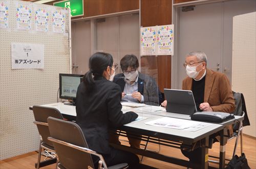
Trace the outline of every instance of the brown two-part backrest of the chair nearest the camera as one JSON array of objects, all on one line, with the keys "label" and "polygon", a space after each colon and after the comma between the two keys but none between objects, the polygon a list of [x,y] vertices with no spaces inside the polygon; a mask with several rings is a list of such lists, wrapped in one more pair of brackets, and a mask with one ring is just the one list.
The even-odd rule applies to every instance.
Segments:
[{"label": "brown two-part backrest of the chair nearest the camera", "polygon": [[[52,138],[74,144],[75,146],[88,148],[86,138],[84,137],[81,128],[74,122],[49,117],[48,124]],[[90,154],[58,142],[53,142],[53,145],[60,164],[65,168],[88,168],[88,166],[94,168]]]}]

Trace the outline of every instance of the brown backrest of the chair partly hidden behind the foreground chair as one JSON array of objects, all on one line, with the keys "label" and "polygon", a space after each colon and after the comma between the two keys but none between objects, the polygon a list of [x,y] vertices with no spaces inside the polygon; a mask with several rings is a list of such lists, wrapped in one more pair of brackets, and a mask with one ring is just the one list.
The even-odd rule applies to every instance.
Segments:
[{"label": "brown backrest of the chair partly hidden behind the foreground chair", "polygon": [[[47,138],[50,136],[48,125],[42,125],[41,123],[47,123],[48,117],[55,117],[62,119],[61,113],[55,108],[42,107],[42,106],[33,106],[33,113],[35,117],[35,124],[37,126],[38,132],[42,137],[42,142],[53,147],[52,141]],[[37,123],[39,122],[39,123]]]}]

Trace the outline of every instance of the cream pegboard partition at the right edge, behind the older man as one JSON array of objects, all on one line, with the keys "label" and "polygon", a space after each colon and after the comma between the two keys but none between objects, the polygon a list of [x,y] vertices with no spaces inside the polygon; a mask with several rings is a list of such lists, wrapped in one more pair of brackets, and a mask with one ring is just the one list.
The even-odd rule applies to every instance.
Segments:
[{"label": "cream pegboard partition at the right edge, behind the older man", "polygon": [[232,90],[244,94],[250,126],[256,137],[256,12],[233,17]]}]

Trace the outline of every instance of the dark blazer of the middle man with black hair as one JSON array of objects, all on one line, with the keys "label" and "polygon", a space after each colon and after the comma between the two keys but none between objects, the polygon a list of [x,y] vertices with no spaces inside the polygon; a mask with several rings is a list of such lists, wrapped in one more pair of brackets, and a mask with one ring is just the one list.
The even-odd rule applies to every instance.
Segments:
[{"label": "dark blazer of the middle man with black hair", "polygon": [[[122,91],[125,86],[124,78],[123,74],[117,74],[113,81],[121,87]],[[157,87],[156,81],[150,76],[141,74],[140,72],[138,78],[138,92],[143,95],[144,103],[147,105],[159,106],[159,104],[163,102],[163,97]]]}]

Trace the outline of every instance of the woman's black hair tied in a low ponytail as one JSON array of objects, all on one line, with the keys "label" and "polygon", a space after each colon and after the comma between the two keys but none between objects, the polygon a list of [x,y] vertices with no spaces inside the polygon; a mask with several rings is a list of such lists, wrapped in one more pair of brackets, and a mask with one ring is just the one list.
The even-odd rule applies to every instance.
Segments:
[{"label": "woman's black hair tied in a low ponytail", "polygon": [[[110,54],[97,52],[90,57],[89,68],[86,74],[83,76],[83,83],[86,86],[86,90],[90,92],[94,88],[94,77],[102,77],[103,71],[112,67],[113,57]],[[93,76],[92,76],[93,75]]]}]

